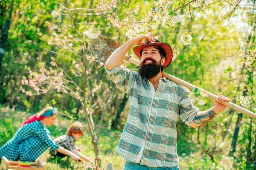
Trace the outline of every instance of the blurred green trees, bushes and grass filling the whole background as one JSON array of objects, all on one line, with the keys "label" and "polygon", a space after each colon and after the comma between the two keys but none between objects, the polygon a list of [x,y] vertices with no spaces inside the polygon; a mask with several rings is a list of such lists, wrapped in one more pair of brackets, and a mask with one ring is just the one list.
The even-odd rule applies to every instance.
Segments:
[{"label": "blurred green trees, bushes and grass filling the whole background", "polygon": [[[237,3],[241,2],[240,5],[251,3],[255,6],[255,2],[251,0],[218,1],[205,6],[205,11],[194,7],[193,3],[188,6],[187,3],[190,1],[187,0],[177,0],[168,4],[167,8],[156,6],[155,2],[157,1],[0,1],[0,38],[3,37],[4,25],[9,17],[10,6],[13,4],[11,25],[2,68],[0,68],[0,103],[32,113],[51,104],[58,108],[58,111],[83,122],[86,127],[90,126],[86,115],[91,113],[89,120],[94,121],[96,130],[109,130],[100,133],[99,137],[100,155],[104,155],[102,159],[115,162],[115,169],[122,169],[122,159],[114,150],[120,131],[112,131],[111,123],[121,104],[123,93],[113,88],[115,85],[105,73],[103,63],[95,61],[91,56],[90,42],[93,37],[102,34],[119,40],[122,44],[129,40],[124,35],[139,25],[136,21],[150,21],[152,25],[163,21],[157,17],[146,18],[151,8],[152,12],[160,11],[167,17],[184,15],[180,22],[168,28],[163,24],[153,28],[148,26],[148,23],[143,23],[145,29],[141,33],[152,34],[168,42],[177,51],[177,57],[165,72],[213,94],[224,93],[234,101],[241,99],[244,94],[250,96],[252,102],[247,108],[256,112],[254,90],[256,85],[253,81],[256,60],[255,57],[249,59],[255,51],[255,36],[250,31],[251,27],[255,29],[255,12],[253,11],[255,9],[246,5],[229,12],[239,5]],[[230,17],[229,20],[227,20],[228,17]],[[192,23],[191,18],[193,18]],[[124,20],[129,23],[123,22]],[[192,42],[189,45],[181,42],[183,33],[191,35]],[[128,53],[134,55],[132,49]],[[124,63],[124,65],[131,70],[138,69],[132,64]],[[39,82],[36,85],[41,85],[40,88],[44,91],[51,85],[49,91],[41,93],[40,96],[30,96],[30,94],[37,94],[35,86],[23,85],[22,80],[40,76],[43,68],[45,69],[43,75],[46,75],[47,71],[52,71],[52,77],[47,79],[46,83]],[[29,71],[32,71],[32,75]],[[64,74],[63,77],[59,76],[60,73]],[[62,81],[63,88],[56,87],[54,82],[56,79]],[[26,94],[25,91],[31,93]],[[102,111],[113,91],[115,91],[113,99],[106,108],[102,127],[98,129]],[[200,110],[212,107],[213,102],[205,94],[199,93],[197,88],[192,92],[194,105]],[[237,104],[239,105],[240,102]],[[120,130],[125,125],[128,110],[129,106],[126,104],[117,126]],[[177,152],[181,160],[185,160],[180,162],[181,169],[255,169],[256,162],[253,158],[256,150],[255,140],[253,140],[256,135],[255,123],[251,123],[250,119],[244,116],[236,125],[237,114],[234,113],[232,116],[229,112],[230,110],[227,109],[216,116],[212,122],[198,129],[190,128],[180,120],[177,122]],[[0,145],[14,135],[18,127],[12,127],[12,125],[16,125],[17,122],[19,125],[22,122],[17,116],[17,120],[11,119],[10,117],[15,116],[15,113],[10,114],[7,117],[1,117]],[[67,124],[70,123],[64,116],[59,117],[60,121],[66,122],[63,126],[49,127],[52,136],[64,134]],[[240,125],[234,159],[231,159],[227,155],[233,132]],[[227,135],[222,141],[225,133]],[[88,135],[79,142],[85,145],[84,147],[90,146],[86,148],[85,153],[93,156],[91,140],[92,137]],[[224,143],[223,146],[219,144],[220,142]],[[210,159],[206,154],[207,150],[211,150],[216,145],[221,149]],[[227,149],[224,150],[223,147]],[[250,150],[247,149],[248,147]],[[202,150],[204,150],[203,153],[201,153]],[[115,158],[119,161],[115,161],[113,156],[116,156]],[[189,158],[183,159],[186,156]],[[229,160],[232,163],[231,167],[227,164]],[[106,162],[103,163],[103,165],[106,164]],[[52,163],[50,167],[55,167],[55,164]],[[65,168],[70,167],[68,165]]]}]

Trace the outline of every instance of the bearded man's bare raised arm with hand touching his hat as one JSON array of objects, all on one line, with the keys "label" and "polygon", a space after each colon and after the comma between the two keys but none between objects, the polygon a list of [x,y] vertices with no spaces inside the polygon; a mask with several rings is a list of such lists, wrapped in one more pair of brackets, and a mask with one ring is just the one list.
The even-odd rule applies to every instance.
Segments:
[{"label": "bearded man's bare raised arm with hand touching his hat", "polygon": [[106,61],[106,68],[108,70],[111,70],[122,64],[122,60],[124,59],[125,54],[133,45],[143,45],[144,42],[142,42],[141,40],[144,38],[150,40],[151,42],[154,42],[155,40],[152,37],[153,36],[149,34],[140,34],[137,37],[133,37],[131,40],[125,42],[123,45],[117,48],[108,58],[108,60]]}]

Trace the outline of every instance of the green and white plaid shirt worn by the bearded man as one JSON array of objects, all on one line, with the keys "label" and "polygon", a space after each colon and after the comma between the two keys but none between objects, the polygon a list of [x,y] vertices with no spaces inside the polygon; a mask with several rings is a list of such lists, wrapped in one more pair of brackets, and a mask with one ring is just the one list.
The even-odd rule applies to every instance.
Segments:
[{"label": "green and white plaid shirt worn by the bearded man", "polygon": [[[163,77],[157,91],[152,95],[149,80],[140,77],[119,65],[109,71],[105,68],[116,87],[128,94],[130,111],[116,147],[124,159],[148,167],[177,166],[178,117],[190,125],[198,108],[190,101],[191,92]],[[143,155],[137,159],[143,146]]]}]

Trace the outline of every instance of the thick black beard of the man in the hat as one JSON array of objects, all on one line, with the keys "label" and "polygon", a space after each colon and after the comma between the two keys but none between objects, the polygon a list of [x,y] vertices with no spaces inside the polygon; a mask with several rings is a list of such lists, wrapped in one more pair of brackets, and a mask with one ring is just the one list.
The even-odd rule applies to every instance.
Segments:
[{"label": "thick black beard of the man in the hat", "polygon": [[[153,63],[151,64],[145,64],[144,61],[150,60]],[[161,64],[157,63],[156,60],[148,58],[144,59],[144,61],[140,64],[139,73],[141,77],[144,77],[146,79],[151,79],[153,77],[156,77],[158,73],[161,71]]]}]

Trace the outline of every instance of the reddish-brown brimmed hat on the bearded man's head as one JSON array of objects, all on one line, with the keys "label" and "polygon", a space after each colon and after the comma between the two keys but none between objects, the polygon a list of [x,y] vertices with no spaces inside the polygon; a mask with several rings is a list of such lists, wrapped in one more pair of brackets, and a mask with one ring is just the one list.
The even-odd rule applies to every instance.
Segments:
[{"label": "reddish-brown brimmed hat on the bearded man's head", "polygon": [[141,57],[140,51],[143,50],[143,48],[148,47],[148,46],[160,46],[161,48],[163,48],[163,50],[166,53],[166,58],[165,58],[166,62],[163,65],[163,69],[165,69],[172,62],[172,48],[166,42],[161,42],[155,38],[154,38],[154,40],[156,40],[156,41],[151,42],[150,40],[146,39],[144,45],[138,45],[138,46],[134,47],[134,53],[140,58]]}]

